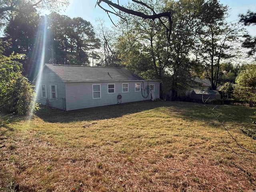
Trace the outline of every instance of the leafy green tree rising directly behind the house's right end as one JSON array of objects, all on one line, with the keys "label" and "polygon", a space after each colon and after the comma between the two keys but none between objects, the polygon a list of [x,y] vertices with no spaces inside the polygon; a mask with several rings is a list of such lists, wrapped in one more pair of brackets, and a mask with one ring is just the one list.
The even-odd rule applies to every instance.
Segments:
[{"label": "leafy green tree rising directly behind the house's right end", "polygon": [[[154,4],[152,0],[145,0],[144,2]],[[146,14],[152,12],[152,10],[145,9],[142,5],[138,6],[136,3],[129,4],[128,8],[137,12],[145,12]],[[163,2],[160,1],[154,4],[154,9],[157,11],[163,10]],[[135,66],[139,63],[128,63],[128,61],[132,60],[139,61],[134,60],[134,53],[138,57],[141,55],[149,56],[151,61],[148,64],[148,68],[154,71],[154,79],[161,79],[164,69],[169,64],[170,57],[170,47],[168,46],[169,42],[166,40],[164,27],[159,20],[145,20],[129,14],[126,14],[125,17],[127,22],[120,24],[122,35],[118,40],[121,60],[126,60],[126,65]],[[132,56],[133,59],[128,58],[128,56]]]}]

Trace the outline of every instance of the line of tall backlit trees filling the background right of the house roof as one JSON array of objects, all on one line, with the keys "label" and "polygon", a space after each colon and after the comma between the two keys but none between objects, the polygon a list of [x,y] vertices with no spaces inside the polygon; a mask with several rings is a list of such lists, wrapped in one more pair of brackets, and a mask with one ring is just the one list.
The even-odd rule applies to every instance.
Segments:
[{"label": "line of tall backlit trees filling the background right of the house roof", "polygon": [[[229,8],[218,0],[132,1],[127,10],[118,7],[118,2],[118,6],[100,1],[103,2],[111,7],[109,14],[120,17],[120,22],[114,40],[110,38],[114,32],[100,24],[102,46],[107,52],[101,64],[125,66],[144,78],[162,79],[165,90],[170,90],[173,97],[177,90],[187,89],[195,76],[210,80],[212,90],[225,84],[224,96],[227,87],[232,86],[233,93],[235,83],[240,87],[236,77],[245,69],[241,58],[246,54],[241,44],[249,48],[248,56],[255,60],[255,37],[243,28],[255,24],[253,12],[240,15],[238,22],[228,22]],[[113,13],[112,8],[119,12]],[[130,10],[144,14],[134,16]],[[166,12],[171,14],[172,23],[167,38],[167,16],[145,19],[145,15]],[[237,88],[235,93],[238,90],[242,89]]]}]

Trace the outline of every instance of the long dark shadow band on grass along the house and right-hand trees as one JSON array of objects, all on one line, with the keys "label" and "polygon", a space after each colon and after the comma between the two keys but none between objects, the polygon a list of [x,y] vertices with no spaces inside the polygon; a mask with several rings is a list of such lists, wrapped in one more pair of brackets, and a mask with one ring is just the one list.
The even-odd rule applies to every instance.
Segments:
[{"label": "long dark shadow band on grass along the house and right-hand trees", "polygon": [[[164,107],[164,112],[167,112],[170,116],[192,121],[214,120],[215,118],[212,115],[212,112],[214,112],[217,116],[220,114],[219,119],[222,121],[225,120],[225,122],[250,122],[256,111],[255,108],[244,106],[216,107],[214,105],[204,106],[203,104],[190,102],[142,101],[38,116],[46,122],[79,122],[117,118],[126,114],[152,110],[159,107]],[[213,111],[212,108],[214,108]],[[156,113],[158,112],[159,110],[156,110]]]}]

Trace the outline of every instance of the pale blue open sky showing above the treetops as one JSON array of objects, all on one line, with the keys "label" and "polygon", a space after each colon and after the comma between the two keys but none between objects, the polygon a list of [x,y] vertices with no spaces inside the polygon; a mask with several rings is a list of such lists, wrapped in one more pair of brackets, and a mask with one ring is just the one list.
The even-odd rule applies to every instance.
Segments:
[{"label": "pale blue open sky showing above the treetops", "polygon": [[[130,0],[131,1],[131,0]],[[97,0],[70,0],[70,5],[65,11],[61,11],[60,14],[69,16],[70,18],[82,17],[89,21],[93,26],[97,26],[97,18],[105,20],[106,26],[112,26],[112,22],[108,18],[108,15],[100,7],[96,6]],[[117,2],[117,0],[112,0]],[[119,0],[121,4],[127,4],[128,0]],[[229,22],[238,21],[238,14],[246,14],[247,10],[256,12],[256,0],[220,0],[223,5],[228,5],[230,8],[230,16],[228,17]],[[102,2],[104,5],[104,2]],[[111,15],[112,20],[117,18]],[[256,36],[256,26],[246,27],[249,34]]]}]

